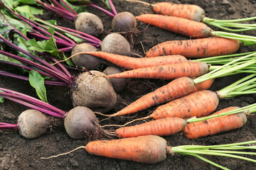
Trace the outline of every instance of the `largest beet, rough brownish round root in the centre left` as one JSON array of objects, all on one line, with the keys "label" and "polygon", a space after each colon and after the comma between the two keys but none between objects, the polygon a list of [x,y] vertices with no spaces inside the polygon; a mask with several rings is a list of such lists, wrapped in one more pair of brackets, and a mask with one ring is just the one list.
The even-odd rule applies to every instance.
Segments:
[{"label": "largest beet, rough brownish round root in the centre left", "polygon": [[[102,72],[92,70],[84,72],[76,79],[72,89],[73,106],[85,106],[100,113],[110,111],[117,102],[117,94],[114,92],[110,80]],[[93,78],[93,79],[92,79]]]}]

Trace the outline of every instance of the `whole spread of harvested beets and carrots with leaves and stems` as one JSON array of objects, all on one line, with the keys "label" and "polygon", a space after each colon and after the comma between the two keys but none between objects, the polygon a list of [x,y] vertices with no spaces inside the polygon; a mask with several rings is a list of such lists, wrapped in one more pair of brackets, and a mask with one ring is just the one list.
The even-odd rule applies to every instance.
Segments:
[{"label": "whole spread of harvested beets and carrots with leaves and stems", "polygon": [[[127,1],[129,2],[126,4],[138,3]],[[185,154],[188,156],[178,156],[181,158],[177,161],[183,158],[191,159],[193,156],[202,160],[202,165],[196,166],[201,168],[233,167],[231,163],[223,164],[222,157],[215,159],[215,156],[252,162],[248,163],[248,166],[256,163],[255,135],[248,138],[245,138],[245,135],[240,136],[241,130],[246,132],[254,125],[255,101],[241,102],[240,107],[236,106],[237,104],[234,106],[232,102],[239,96],[255,95],[256,53],[250,48],[250,45],[255,45],[256,42],[255,37],[250,35],[254,26],[232,23],[247,21],[246,19],[225,21],[230,23],[228,24],[199,16],[211,26],[225,28],[227,32],[223,32],[213,31],[214,28],[198,21],[179,18],[176,12],[174,16],[170,16],[172,14],[161,13],[161,9],[156,9],[158,5],[163,5],[167,8],[161,8],[168,11],[171,9],[169,5],[176,6],[170,3],[149,4],[146,8],[149,8],[151,13],[161,15],[135,13],[137,21],[132,13],[121,12],[122,9],[116,10],[114,4],[118,3],[113,4],[111,0],[3,0],[0,4],[0,75],[6,81],[22,82],[33,87],[27,87],[32,90],[23,94],[22,87],[18,90],[15,86],[6,88],[1,85],[0,79],[1,106],[16,106],[16,103],[22,105],[18,106],[22,111],[19,110],[20,113],[16,113],[18,115],[11,121],[6,116],[0,118],[0,132],[16,135],[14,130],[18,130],[23,137],[36,138],[18,138],[19,141],[28,142],[28,145],[32,141],[48,137],[53,139],[58,132],[65,136],[65,139],[60,139],[60,136],[56,138],[56,145],[60,142],[58,146],[55,146],[55,142],[48,143],[50,152],[37,153],[38,161],[44,164],[55,162],[63,157],[49,158],[63,154],[69,154],[71,159],[79,157],[81,161],[84,160],[82,154],[103,160],[90,156],[94,154],[114,158],[104,159],[110,162],[122,162],[116,159],[124,159],[156,164],[170,162],[173,158],[167,154],[175,158],[176,154]],[[102,5],[105,7],[101,7]],[[174,10],[190,8],[184,7],[185,5],[178,6]],[[87,9],[96,15],[87,11],[81,12]],[[46,11],[54,17],[60,17],[58,21],[63,20],[74,25],[63,26],[63,23],[44,21],[42,12]],[[199,11],[204,13],[202,8],[199,8]],[[108,22],[112,21],[110,30],[104,26],[105,22],[100,21],[104,14],[110,16],[107,17]],[[86,15],[97,18],[96,23],[92,23],[93,19],[84,22],[89,23],[89,27],[92,26],[92,31],[87,30],[88,26],[84,26],[80,19],[87,19]],[[148,17],[157,18],[153,19],[153,22],[149,21]],[[168,23],[161,23],[161,20]],[[177,24],[180,21],[181,23]],[[184,27],[174,28],[175,24]],[[203,36],[198,35],[201,28],[194,27],[194,24],[206,26],[207,31],[202,29]],[[167,30],[174,33],[167,33],[172,37],[166,36],[157,43],[137,43],[136,35],[143,36],[143,28],[154,29],[159,33],[167,33]],[[191,32],[188,29],[191,29]],[[240,30],[248,32],[228,32]],[[187,35],[189,38],[176,33]],[[176,36],[178,40],[174,38]],[[210,37],[205,38],[208,36]],[[249,47],[244,49],[244,46]],[[140,51],[137,51],[138,49]],[[231,55],[234,52],[237,53]],[[233,77],[232,81],[223,82],[222,86],[219,86],[220,81],[229,79],[227,77]],[[58,95],[60,98],[54,99]],[[69,104],[63,101],[64,95],[68,96]],[[65,97],[65,100],[67,98]],[[237,138],[230,140],[228,134],[231,133]],[[178,143],[176,140],[184,142]],[[52,143],[54,145],[51,145]],[[66,146],[68,148],[60,149]],[[77,148],[74,149],[74,146]],[[87,152],[71,153],[80,148]],[[77,156],[77,153],[80,156]],[[56,156],[48,157],[50,155]],[[66,156],[64,159],[70,158]],[[77,166],[71,159],[72,166]],[[134,164],[132,162],[129,164]],[[58,166],[63,164],[58,163]],[[119,166],[119,163],[117,164]],[[191,166],[190,162],[186,164],[186,167]],[[156,164],[156,167],[161,167],[161,163]]]}]

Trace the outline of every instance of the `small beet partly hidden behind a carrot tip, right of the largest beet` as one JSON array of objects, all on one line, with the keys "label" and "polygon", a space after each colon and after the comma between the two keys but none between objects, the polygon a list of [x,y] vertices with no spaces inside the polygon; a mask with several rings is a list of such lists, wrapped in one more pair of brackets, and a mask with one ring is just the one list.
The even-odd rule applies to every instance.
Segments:
[{"label": "small beet partly hidden behind a carrot tip, right of the largest beet", "polygon": [[[103,71],[103,73],[106,75],[115,74],[115,73],[119,73],[119,72],[124,72],[124,69],[121,69],[119,67],[109,66]],[[121,93],[124,90],[125,85],[127,84],[126,79],[114,79],[114,78],[111,79],[110,78],[110,82],[114,88],[114,91],[117,94]]]}]

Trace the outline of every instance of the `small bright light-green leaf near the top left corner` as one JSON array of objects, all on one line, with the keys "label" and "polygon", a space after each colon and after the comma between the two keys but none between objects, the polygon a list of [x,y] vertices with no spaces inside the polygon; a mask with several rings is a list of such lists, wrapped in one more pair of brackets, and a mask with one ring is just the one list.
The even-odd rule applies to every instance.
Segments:
[{"label": "small bright light-green leaf near the top left corner", "polygon": [[22,16],[25,16],[26,18],[31,18],[34,15],[43,14],[43,10],[39,8],[35,8],[33,6],[18,6],[15,8],[15,11],[20,13]]}]

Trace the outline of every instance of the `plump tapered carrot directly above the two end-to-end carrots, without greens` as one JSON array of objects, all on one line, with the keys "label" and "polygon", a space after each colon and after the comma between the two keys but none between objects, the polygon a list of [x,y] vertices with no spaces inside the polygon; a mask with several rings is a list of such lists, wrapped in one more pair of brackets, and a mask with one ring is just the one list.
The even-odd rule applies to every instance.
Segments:
[{"label": "plump tapered carrot directly above the two end-to-end carrots, without greens", "polygon": [[192,118],[196,116],[201,118],[203,116],[213,113],[217,108],[219,99],[217,94],[213,91],[196,91],[188,96],[177,98],[174,101],[159,106],[148,118]]}]

